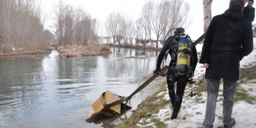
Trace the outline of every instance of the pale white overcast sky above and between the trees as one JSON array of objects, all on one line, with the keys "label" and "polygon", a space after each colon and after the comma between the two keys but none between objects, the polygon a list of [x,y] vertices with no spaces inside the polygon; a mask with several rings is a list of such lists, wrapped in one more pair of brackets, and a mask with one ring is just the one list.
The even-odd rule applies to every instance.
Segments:
[{"label": "pale white overcast sky above and between the trees", "polygon": [[[59,0],[42,0],[41,5],[47,13],[51,13],[55,5]],[[63,0],[64,3],[72,5],[73,7],[82,7],[86,12],[89,12],[93,18],[98,19],[103,23],[107,19],[107,16],[111,12],[121,12],[133,17],[135,21],[141,13],[143,4],[148,0]],[[160,0],[155,0],[160,1]],[[185,29],[185,32],[189,34],[192,40],[199,38],[203,34],[203,9],[202,0],[184,0],[191,6],[191,13],[193,14],[192,24]],[[247,5],[247,4],[246,4]],[[229,0],[213,0],[212,3],[212,16],[224,13],[228,9]],[[253,24],[256,23],[256,20]],[[46,27],[52,24],[52,21],[48,19]],[[49,28],[49,27],[48,27]]]}]

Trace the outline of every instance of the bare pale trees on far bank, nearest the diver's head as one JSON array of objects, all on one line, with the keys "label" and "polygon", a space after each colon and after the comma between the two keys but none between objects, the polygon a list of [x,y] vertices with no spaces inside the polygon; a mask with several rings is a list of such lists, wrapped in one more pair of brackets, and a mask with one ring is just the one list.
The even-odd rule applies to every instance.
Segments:
[{"label": "bare pale trees on far bank, nearest the diver's head", "polygon": [[186,28],[190,23],[189,11],[190,5],[183,0],[147,1],[142,7],[141,15],[135,21],[129,15],[113,12],[107,17],[105,28],[114,44],[120,44],[123,40],[125,45],[132,46],[135,39],[135,45],[137,41],[142,41],[145,47],[148,42],[155,47],[152,40],[156,40],[158,47],[158,41],[164,41],[170,29]]}]

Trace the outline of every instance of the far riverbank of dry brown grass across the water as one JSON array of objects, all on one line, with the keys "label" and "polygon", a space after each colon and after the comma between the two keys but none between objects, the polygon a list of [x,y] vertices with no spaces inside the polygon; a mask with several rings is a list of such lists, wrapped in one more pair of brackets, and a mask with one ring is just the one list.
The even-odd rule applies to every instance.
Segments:
[{"label": "far riverbank of dry brown grass across the water", "polygon": [[[161,50],[160,47],[155,48],[152,46],[130,46],[122,44],[98,44],[95,42],[89,42],[88,45],[67,45],[67,46],[59,46],[57,42],[51,43],[35,43],[31,46],[27,46],[24,48],[20,48],[20,50],[13,50],[13,48],[0,48],[0,57],[8,57],[8,56],[20,56],[24,54],[38,54],[38,53],[47,53],[52,50],[57,50],[60,53],[60,56],[63,57],[87,57],[87,56],[105,56],[107,54],[112,53],[110,47],[124,47],[124,48],[139,48],[139,49],[148,49],[148,50]],[[5,49],[5,50],[4,50]]]}]

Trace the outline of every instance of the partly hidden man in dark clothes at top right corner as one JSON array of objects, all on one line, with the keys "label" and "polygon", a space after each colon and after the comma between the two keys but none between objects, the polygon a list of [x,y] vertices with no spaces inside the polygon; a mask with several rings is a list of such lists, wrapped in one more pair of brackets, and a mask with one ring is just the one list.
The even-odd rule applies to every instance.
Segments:
[{"label": "partly hidden man in dark clothes at top right corner", "polygon": [[254,21],[255,17],[255,8],[252,7],[253,0],[249,0],[247,6],[244,8],[244,17],[250,22]]}]

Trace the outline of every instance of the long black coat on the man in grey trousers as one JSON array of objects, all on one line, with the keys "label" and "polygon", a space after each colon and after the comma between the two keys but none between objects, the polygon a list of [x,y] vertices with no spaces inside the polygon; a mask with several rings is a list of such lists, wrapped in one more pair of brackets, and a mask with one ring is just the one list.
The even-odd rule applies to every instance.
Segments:
[{"label": "long black coat on the man in grey trousers", "polygon": [[226,10],[213,17],[199,63],[208,63],[206,78],[239,79],[240,60],[253,50],[251,22],[242,11]]}]

